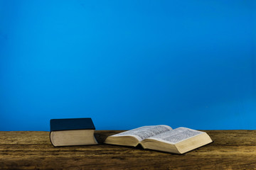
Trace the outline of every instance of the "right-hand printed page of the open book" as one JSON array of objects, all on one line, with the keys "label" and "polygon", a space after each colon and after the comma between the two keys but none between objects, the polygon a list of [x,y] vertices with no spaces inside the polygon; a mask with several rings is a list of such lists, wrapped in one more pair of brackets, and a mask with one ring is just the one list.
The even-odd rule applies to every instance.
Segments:
[{"label": "right-hand printed page of the open book", "polygon": [[191,130],[188,128],[176,128],[169,132],[164,132],[164,133],[161,133],[154,137],[149,137],[149,139],[159,140],[161,142],[166,142],[166,143],[170,143],[170,144],[176,144],[178,142],[187,140],[187,139],[194,137],[196,135],[199,135],[201,133],[204,133],[204,132],[201,132],[198,130]]}]

